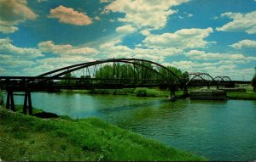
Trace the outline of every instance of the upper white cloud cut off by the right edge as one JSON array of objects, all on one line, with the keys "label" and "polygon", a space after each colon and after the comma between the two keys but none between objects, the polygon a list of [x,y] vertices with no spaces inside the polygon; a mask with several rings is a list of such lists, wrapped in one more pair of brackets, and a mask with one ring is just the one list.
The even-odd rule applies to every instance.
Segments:
[{"label": "upper white cloud cut off by the right edge", "polygon": [[216,28],[217,31],[245,31],[247,34],[256,34],[256,11],[248,14],[228,12],[221,16],[228,17],[232,21]]}]

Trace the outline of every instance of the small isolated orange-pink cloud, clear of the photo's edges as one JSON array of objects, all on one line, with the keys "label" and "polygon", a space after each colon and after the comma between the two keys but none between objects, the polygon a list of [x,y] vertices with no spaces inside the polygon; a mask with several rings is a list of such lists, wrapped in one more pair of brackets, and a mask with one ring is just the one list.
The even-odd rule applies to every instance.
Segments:
[{"label": "small isolated orange-pink cloud, clear of the photo's edges", "polygon": [[71,25],[90,25],[92,23],[87,15],[64,6],[50,9],[49,18],[59,19],[59,22]]}]

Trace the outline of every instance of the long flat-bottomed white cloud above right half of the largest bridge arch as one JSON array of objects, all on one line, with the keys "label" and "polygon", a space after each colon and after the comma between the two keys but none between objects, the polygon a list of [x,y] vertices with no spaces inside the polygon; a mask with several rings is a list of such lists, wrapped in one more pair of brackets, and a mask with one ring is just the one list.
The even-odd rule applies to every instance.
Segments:
[{"label": "long flat-bottomed white cloud above right half of the largest bridge arch", "polygon": [[205,41],[204,38],[212,32],[211,27],[182,29],[174,33],[149,35],[143,40],[143,43],[147,47],[177,47],[181,49],[206,47],[210,42]]}]

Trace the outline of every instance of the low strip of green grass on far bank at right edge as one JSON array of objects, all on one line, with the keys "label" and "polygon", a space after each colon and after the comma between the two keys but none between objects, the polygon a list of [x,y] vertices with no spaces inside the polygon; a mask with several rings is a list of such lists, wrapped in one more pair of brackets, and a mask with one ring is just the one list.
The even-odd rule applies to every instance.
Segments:
[{"label": "low strip of green grass on far bank at right edge", "polygon": [[256,100],[256,92],[227,92],[230,99]]}]

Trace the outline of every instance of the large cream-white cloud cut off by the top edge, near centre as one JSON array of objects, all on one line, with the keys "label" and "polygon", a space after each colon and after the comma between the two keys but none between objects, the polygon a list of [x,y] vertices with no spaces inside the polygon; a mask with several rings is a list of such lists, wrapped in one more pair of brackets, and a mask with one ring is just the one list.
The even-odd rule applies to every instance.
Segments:
[{"label": "large cream-white cloud cut off by the top edge, near centre", "polygon": [[119,18],[119,21],[137,28],[160,29],[166,25],[167,17],[177,12],[171,8],[185,2],[188,0],[116,0],[104,11],[124,13],[125,17]]}]

